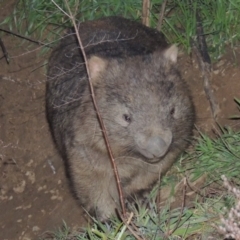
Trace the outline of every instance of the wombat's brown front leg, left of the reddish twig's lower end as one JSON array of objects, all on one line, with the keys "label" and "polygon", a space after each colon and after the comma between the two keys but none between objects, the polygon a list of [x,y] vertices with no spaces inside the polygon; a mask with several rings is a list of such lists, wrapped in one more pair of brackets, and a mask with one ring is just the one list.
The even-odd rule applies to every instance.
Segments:
[{"label": "wombat's brown front leg, left of the reddish twig's lower end", "polygon": [[[79,152],[78,152],[79,153]],[[80,155],[83,155],[82,153]],[[91,156],[94,153],[91,152]],[[116,180],[108,159],[71,156],[70,171],[74,190],[83,208],[100,221],[107,220],[119,208]]]}]

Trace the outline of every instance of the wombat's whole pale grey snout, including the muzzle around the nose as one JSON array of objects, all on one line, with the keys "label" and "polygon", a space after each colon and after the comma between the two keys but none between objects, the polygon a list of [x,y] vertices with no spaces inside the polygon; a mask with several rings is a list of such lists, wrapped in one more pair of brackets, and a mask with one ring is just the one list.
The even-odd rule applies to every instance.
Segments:
[{"label": "wombat's whole pale grey snout, including the muzzle around the nose", "polygon": [[148,159],[163,157],[171,145],[172,132],[165,131],[161,135],[150,136],[147,138],[144,134],[139,133],[136,136],[138,151]]}]

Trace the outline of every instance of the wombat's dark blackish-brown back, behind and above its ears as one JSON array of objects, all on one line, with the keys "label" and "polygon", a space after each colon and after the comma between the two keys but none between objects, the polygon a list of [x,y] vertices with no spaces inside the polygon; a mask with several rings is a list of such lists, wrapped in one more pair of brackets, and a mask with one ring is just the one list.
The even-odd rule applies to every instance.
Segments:
[{"label": "wombat's dark blackish-brown back, behind and above its ears", "polygon": [[[72,46],[78,45],[75,35],[71,36],[71,33],[74,33],[73,29],[56,51],[63,47],[72,50]],[[87,55],[119,58],[150,54],[168,46],[162,33],[122,17],[83,22],[79,25],[79,33]]]}]

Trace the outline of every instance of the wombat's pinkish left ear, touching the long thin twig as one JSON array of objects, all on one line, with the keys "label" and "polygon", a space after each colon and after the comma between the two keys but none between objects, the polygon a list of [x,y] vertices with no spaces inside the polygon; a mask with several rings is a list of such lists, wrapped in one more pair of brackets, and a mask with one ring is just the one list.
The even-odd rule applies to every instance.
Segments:
[{"label": "wombat's pinkish left ear, touching the long thin twig", "polygon": [[92,83],[94,84],[97,83],[100,74],[105,71],[107,67],[107,61],[100,57],[92,56],[88,60],[88,67]]}]

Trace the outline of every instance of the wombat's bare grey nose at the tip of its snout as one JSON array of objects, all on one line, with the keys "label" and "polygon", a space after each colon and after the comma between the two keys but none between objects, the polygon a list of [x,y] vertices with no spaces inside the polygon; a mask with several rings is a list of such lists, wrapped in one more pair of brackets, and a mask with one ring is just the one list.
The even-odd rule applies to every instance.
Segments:
[{"label": "wombat's bare grey nose at the tip of its snout", "polygon": [[172,141],[172,136],[168,136],[168,139],[164,140],[160,136],[150,137],[147,143],[147,151],[153,155],[153,157],[162,157],[167,152]]}]

